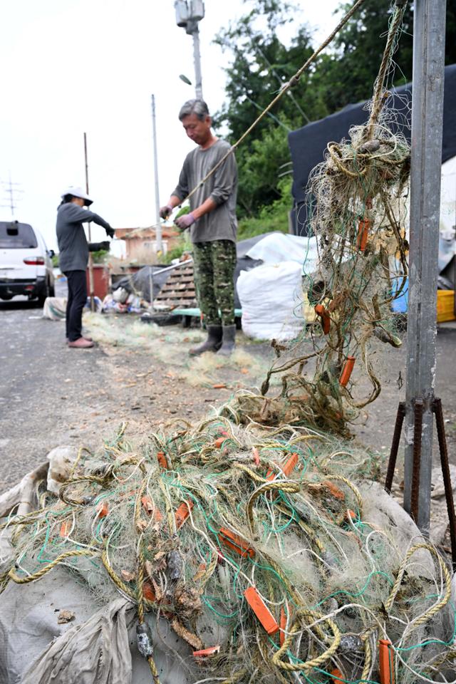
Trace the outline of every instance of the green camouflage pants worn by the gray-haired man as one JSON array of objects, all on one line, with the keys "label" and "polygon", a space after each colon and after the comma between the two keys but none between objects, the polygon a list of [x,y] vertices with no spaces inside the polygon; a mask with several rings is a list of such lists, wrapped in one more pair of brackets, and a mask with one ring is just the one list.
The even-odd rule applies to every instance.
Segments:
[{"label": "green camouflage pants worn by the gray-haired man", "polygon": [[193,262],[199,310],[204,314],[206,325],[232,326],[236,245],[231,240],[194,242]]}]

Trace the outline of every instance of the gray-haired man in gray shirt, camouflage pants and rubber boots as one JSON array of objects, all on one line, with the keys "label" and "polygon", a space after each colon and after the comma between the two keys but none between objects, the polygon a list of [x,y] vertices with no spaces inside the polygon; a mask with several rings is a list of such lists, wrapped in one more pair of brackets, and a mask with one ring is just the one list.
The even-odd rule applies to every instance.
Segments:
[{"label": "gray-haired man in gray shirt, camouflage pants and rubber boots", "polygon": [[[197,147],[185,157],[179,183],[160,216],[172,209],[196,187],[231,149],[216,138],[204,100],[188,100],[179,119]],[[231,154],[211,177],[190,197],[190,214],[176,219],[177,226],[190,228],[199,309],[204,314],[207,340],[190,349],[192,356],[214,351],[229,356],[234,350],[234,268],[236,266],[237,165]]]}]

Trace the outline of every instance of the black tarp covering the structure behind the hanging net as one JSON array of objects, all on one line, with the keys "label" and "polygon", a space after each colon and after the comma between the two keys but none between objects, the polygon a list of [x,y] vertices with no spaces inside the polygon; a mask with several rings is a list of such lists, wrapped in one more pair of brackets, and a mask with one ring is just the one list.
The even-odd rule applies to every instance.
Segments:
[{"label": "black tarp covering the structure behind the hanging net", "polygon": [[[398,126],[410,140],[412,84],[392,91],[388,105],[397,111]],[[328,142],[348,138],[353,125],[368,119],[367,102],[347,105],[340,112],[307,124],[289,133],[289,147],[293,162],[294,232],[306,234],[305,190],[309,173],[324,160]],[[394,128],[393,128],[394,130]],[[445,95],[443,100],[442,163],[456,155],[456,64],[445,67]]]}]

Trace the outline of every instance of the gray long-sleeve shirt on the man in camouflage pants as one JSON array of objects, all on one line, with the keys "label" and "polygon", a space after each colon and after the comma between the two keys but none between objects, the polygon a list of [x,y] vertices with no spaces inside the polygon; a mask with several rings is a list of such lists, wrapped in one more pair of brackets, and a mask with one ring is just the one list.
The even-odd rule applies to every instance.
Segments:
[{"label": "gray long-sleeve shirt on the man in camouflage pants", "polygon": [[[180,172],[179,183],[172,195],[181,200],[185,199],[230,149],[229,142],[217,140],[207,150],[196,147],[189,152]],[[229,155],[204,185],[198,188],[195,195],[190,197],[190,211],[199,207],[208,197],[214,200],[217,207],[197,219],[190,227],[192,242],[236,242],[237,164],[234,154]]]}]

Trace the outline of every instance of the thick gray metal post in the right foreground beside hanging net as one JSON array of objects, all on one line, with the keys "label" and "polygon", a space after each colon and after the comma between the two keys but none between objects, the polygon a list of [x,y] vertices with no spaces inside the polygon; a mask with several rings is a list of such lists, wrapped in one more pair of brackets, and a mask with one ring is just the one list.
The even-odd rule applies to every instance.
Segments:
[{"label": "thick gray metal post in the right foreground beside hanging net", "polygon": [[[415,0],[404,508],[428,535],[442,169],[446,0]],[[421,447],[421,449],[420,449]],[[421,453],[420,453],[421,451]],[[417,467],[418,466],[418,467]],[[418,477],[418,500],[412,482]]]}]

